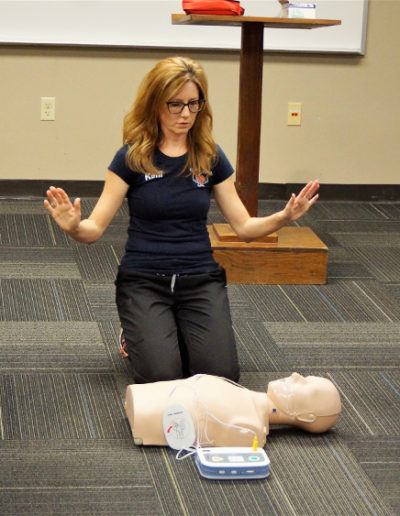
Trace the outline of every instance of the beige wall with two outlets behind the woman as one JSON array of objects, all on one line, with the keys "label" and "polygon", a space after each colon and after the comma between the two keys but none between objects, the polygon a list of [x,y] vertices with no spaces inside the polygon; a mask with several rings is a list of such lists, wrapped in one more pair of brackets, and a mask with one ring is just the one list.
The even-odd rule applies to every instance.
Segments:
[{"label": "beige wall with two outlets behind the woman", "polygon": [[[365,57],[265,54],[261,182],[399,183],[400,2],[369,4]],[[141,78],[175,53],[1,47],[0,178],[103,179]],[[179,53],[206,69],[214,135],[235,164],[238,52]],[[40,121],[42,96],[56,97],[55,122]],[[289,101],[303,103],[301,127],[286,125]]]}]

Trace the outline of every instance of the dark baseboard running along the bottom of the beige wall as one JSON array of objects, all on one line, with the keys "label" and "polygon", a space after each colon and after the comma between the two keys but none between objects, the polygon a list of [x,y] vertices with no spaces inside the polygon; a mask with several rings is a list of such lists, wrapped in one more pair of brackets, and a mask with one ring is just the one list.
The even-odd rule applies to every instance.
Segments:
[{"label": "dark baseboard running along the bottom of the beige wall", "polygon": [[[0,197],[44,197],[50,185],[64,188],[71,197],[98,197],[103,181],[58,179],[0,179]],[[259,199],[288,199],[303,184],[259,183]],[[324,201],[400,201],[400,185],[339,185],[321,184]]]}]

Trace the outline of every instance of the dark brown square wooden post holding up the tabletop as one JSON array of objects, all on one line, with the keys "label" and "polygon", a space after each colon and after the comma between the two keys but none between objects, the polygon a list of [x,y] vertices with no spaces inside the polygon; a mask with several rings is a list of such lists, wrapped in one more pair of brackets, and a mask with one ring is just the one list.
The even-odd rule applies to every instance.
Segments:
[{"label": "dark brown square wooden post holding up the tabletop", "polygon": [[251,216],[257,215],[260,166],[264,24],[244,23],[240,52],[236,187]]}]

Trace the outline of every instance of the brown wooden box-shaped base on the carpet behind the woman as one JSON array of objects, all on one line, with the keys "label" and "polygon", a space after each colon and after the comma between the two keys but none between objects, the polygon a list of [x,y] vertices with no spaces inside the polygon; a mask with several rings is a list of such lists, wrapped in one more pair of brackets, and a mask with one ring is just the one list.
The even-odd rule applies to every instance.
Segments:
[{"label": "brown wooden box-shaped base on the carpet behind the woman", "polygon": [[308,227],[286,226],[264,239],[242,242],[228,224],[208,226],[215,260],[228,283],[326,283],[328,248]]}]

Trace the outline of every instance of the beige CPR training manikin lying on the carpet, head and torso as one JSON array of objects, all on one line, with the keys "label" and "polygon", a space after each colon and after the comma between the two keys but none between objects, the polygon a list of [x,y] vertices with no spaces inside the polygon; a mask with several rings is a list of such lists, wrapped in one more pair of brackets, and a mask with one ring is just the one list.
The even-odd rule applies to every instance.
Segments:
[{"label": "beige CPR training manikin lying on the carpet, head and torso", "polygon": [[269,425],[325,432],[341,411],[339,392],[330,380],[298,373],[271,381],[267,393],[205,374],[133,384],[126,390],[125,410],[135,444],[168,444],[163,416],[174,404],[190,414],[196,446],[251,446],[256,437],[263,447]]}]

